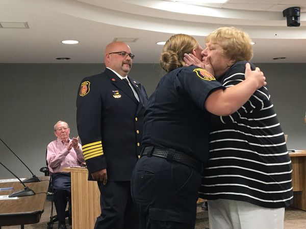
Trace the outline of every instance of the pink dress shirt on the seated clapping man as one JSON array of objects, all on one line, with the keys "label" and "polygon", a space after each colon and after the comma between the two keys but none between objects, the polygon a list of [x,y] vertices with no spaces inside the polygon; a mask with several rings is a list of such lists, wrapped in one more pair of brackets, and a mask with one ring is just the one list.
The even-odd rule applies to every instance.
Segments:
[{"label": "pink dress shirt on the seated clapping man", "polygon": [[[69,142],[71,139],[69,138]],[[67,143],[63,142],[60,138],[49,143],[47,146],[47,162],[49,174],[62,173],[63,168],[80,166],[84,163],[82,146],[79,143],[79,148],[74,150],[73,147],[70,151],[66,149]]]}]

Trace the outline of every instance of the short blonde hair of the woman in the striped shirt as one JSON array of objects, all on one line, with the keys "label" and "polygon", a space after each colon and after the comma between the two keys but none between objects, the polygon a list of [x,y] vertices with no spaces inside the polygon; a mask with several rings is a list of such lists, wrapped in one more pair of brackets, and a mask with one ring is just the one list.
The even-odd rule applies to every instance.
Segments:
[{"label": "short blonde hair of the woman in the striped shirt", "polygon": [[253,57],[250,36],[236,27],[220,27],[210,33],[205,41],[221,45],[224,54],[235,62],[250,61]]}]

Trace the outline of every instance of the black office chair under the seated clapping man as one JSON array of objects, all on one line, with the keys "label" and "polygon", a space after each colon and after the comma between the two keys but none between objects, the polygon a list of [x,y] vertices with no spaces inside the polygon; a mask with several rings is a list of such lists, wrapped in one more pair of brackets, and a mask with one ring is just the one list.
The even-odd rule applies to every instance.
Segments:
[{"label": "black office chair under the seated clapping man", "polygon": [[[47,151],[46,151],[47,154]],[[49,176],[49,168],[48,168],[48,162],[46,161],[46,167],[41,167],[39,171],[44,173],[44,176]],[[48,188],[48,193],[47,196],[50,197],[51,199],[51,211],[50,211],[50,220],[47,222],[47,229],[52,229],[53,228],[53,223],[59,221],[57,215],[53,215],[53,206],[54,206],[54,200],[53,200],[53,187],[52,187],[52,177],[50,177],[50,183],[49,183],[49,188]],[[72,219],[71,219],[71,198],[68,198],[68,210],[65,212],[65,218],[68,217],[68,224],[72,224]]]}]

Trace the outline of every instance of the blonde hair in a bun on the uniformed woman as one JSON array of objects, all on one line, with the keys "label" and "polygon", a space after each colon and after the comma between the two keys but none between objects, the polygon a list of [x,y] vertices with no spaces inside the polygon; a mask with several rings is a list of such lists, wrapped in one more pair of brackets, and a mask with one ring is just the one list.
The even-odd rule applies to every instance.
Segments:
[{"label": "blonde hair in a bun on the uniformed woman", "polygon": [[166,72],[171,72],[176,68],[185,66],[183,60],[184,53],[192,53],[194,48],[198,48],[197,41],[186,34],[176,34],[171,36],[165,43],[160,64]]}]

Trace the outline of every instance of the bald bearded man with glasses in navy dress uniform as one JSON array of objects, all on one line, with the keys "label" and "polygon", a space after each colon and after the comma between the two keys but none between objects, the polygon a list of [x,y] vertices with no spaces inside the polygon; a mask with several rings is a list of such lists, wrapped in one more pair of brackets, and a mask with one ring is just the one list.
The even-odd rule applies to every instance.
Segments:
[{"label": "bald bearded man with glasses in navy dress uniform", "polygon": [[[127,76],[134,54],[123,42],[107,45],[106,70],[82,80],[77,124],[89,180],[100,190],[101,215],[95,229],[138,228],[131,197],[131,173],[141,152],[143,85]],[[90,194],[90,193],[89,193]]]}]

